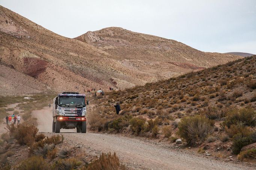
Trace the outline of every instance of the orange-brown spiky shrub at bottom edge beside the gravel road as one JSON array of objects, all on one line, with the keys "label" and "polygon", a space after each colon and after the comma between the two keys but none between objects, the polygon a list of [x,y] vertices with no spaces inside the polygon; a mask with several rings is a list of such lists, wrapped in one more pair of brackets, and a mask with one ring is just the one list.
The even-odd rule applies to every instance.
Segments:
[{"label": "orange-brown spiky shrub at bottom edge beside the gravel road", "polygon": [[125,166],[121,165],[119,158],[116,156],[116,153],[111,155],[111,153],[104,154],[102,153],[97,160],[92,161],[87,167],[87,170],[125,170]]}]

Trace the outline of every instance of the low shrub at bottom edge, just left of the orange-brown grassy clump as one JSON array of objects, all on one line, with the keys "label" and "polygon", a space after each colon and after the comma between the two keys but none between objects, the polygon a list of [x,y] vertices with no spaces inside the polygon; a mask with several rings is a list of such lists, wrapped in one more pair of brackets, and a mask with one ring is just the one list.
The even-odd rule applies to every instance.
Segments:
[{"label": "low shrub at bottom edge, just left of the orange-brown grassy clump", "polygon": [[73,170],[82,163],[75,158],[59,159],[53,164],[53,170]]}]

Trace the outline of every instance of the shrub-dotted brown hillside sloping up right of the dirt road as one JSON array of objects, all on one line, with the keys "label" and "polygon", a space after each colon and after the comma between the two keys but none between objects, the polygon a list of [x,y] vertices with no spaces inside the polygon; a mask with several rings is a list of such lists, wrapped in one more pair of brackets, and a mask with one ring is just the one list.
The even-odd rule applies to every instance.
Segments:
[{"label": "shrub-dotted brown hillside sloping up right of the dirt road", "polygon": [[[232,153],[239,154],[242,148],[232,145],[236,140],[233,136],[241,134],[237,137],[240,141],[241,137],[256,135],[256,55],[109,92],[93,102],[96,107],[89,114],[92,130],[157,138],[168,143],[182,138],[185,146],[199,147],[198,152],[208,150],[228,158]],[[114,108],[117,102],[122,109],[119,115]],[[246,145],[256,142],[255,136],[251,141]],[[224,149],[231,145],[233,150]]]}]

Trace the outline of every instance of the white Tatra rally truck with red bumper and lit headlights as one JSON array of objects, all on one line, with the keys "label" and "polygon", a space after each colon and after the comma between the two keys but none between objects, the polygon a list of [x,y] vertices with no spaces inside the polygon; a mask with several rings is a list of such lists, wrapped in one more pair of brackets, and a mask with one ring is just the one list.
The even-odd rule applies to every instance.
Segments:
[{"label": "white Tatra rally truck with red bumper and lit headlights", "polygon": [[63,92],[53,99],[53,133],[60,129],[77,128],[86,133],[86,96],[78,92]]}]

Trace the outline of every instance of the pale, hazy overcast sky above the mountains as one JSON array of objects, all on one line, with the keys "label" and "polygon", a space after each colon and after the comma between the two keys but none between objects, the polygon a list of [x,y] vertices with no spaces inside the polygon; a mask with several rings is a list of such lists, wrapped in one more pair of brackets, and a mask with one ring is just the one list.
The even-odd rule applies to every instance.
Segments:
[{"label": "pale, hazy overcast sky above the mountains", "polygon": [[0,5],[69,38],[122,27],[200,51],[256,54],[256,0],[0,0]]}]

